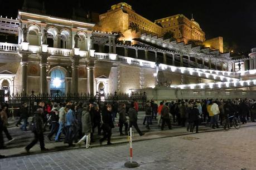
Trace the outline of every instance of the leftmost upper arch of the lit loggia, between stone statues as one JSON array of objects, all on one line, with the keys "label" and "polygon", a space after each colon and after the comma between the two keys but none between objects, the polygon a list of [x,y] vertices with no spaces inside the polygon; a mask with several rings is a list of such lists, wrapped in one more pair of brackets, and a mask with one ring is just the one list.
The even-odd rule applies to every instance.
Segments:
[{"label": "leftmost upper arch of the lit loggia, between stone statues", "polygon": [[28,26],[27,39],[30,45],[40,46],[40,28],[36,24]]}]

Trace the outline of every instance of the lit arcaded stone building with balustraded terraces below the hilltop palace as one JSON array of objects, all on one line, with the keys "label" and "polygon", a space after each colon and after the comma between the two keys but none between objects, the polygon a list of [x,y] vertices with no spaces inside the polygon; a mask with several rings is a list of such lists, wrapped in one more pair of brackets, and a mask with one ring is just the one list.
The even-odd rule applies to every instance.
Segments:
[{"label": "lit arcaded stone building with balustraded terraces below the hilltop palace", "polygon": [[95,24],[69,18],[19,11],[17,19],[0,22],[0,32],[18,36],[17,43],[0,42],[0,85],[11,95],[155,90],[158,71],[172,82],[164,87],[174,95],[170,98],[254,95],[254,53],[249,71],[231,72],[238,61],[229,53],[155,34],[142,33],[129,46],[118,44],[115,33],[93,31]]}]

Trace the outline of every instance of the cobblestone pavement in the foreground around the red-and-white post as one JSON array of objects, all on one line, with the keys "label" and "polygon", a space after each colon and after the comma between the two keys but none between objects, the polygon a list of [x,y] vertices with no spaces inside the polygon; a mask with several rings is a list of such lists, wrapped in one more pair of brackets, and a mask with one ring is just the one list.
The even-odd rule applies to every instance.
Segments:
[{"label": "cobblestone pavement in the foreground around the red-and-white post", "polygon": [[[256,128],[133,143],[136,169],[256,169]],[[129,144],[0,159],[0,169],[125,169]]]}]

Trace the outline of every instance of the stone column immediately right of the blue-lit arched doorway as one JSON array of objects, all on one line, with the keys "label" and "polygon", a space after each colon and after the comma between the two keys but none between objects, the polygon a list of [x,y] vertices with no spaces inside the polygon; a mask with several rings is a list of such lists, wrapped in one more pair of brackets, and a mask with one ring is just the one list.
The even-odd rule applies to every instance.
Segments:
[{"label": "stone column immediately right of the blue-lit arched doorway", "polygon": [[73,59],[71,59],[72,61],[72,93],[73,94],[77,94],[78,93],[78,64],[79,64],[79,59],[78,57],[73,57]]}]

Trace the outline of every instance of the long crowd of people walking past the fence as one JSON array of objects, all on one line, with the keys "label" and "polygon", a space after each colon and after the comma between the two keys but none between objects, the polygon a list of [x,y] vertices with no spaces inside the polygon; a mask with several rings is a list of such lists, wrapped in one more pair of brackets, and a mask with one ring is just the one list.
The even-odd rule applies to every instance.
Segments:
[{"label": "long crowd of people walking past the fence", "polygon": [[[7,106],[2,105],[0,110],[0,149],[4,146],[3,132],[9,142],[14,138],[8,132]],[[144,133],[138,127],[138,102],[133,101],[129,106],[125,103],[113,102],[104,103],[102,108],[96,102],[89,103],[47,103],[41,101],[33,113],[32,121],[28,123],[28,106],[23,103],[20,108],[20,118],[16,126],[20,126],[22,131],[29,129],[34,133],[34,139],[25,150],[30,149],[39,141],[41,151],[47,151],[44,143],[44,132],[50,125],[50,133],[47,138],[55,142],[64,142],[68,146],[85,144],[85,148],[90,148],[90,144],[95,142],[94,133],[103,135],[99,139],[102,144],[107,139],[107,144],[112,144],[112,128],[115,122],[118,123],[120,136],[128,134],[128,127],[134,127],[140,136]],[[199,124],[206,122],[211,128],[219,128],[223,120],[228,115],[238,115],[242,123],[255,122],[256,102],[252,99],[178,99],[177,101],[162,101],[158,105],[153,100],[147,101],[144,106],[145,117],[143,125],[148,131],[156,119],[156,124],[161,130],[167,126],[172,129],[172,124],[187,127],[188,132],[199,132]],[[118,121],[115,118],[118,115]],[[129,118],[129,119],[128,119]],[[21,124],[21,122],[23,122]],[[123,129],[124,127],[124,129]],[[124,131],[123,131],[124,130]]]}]

